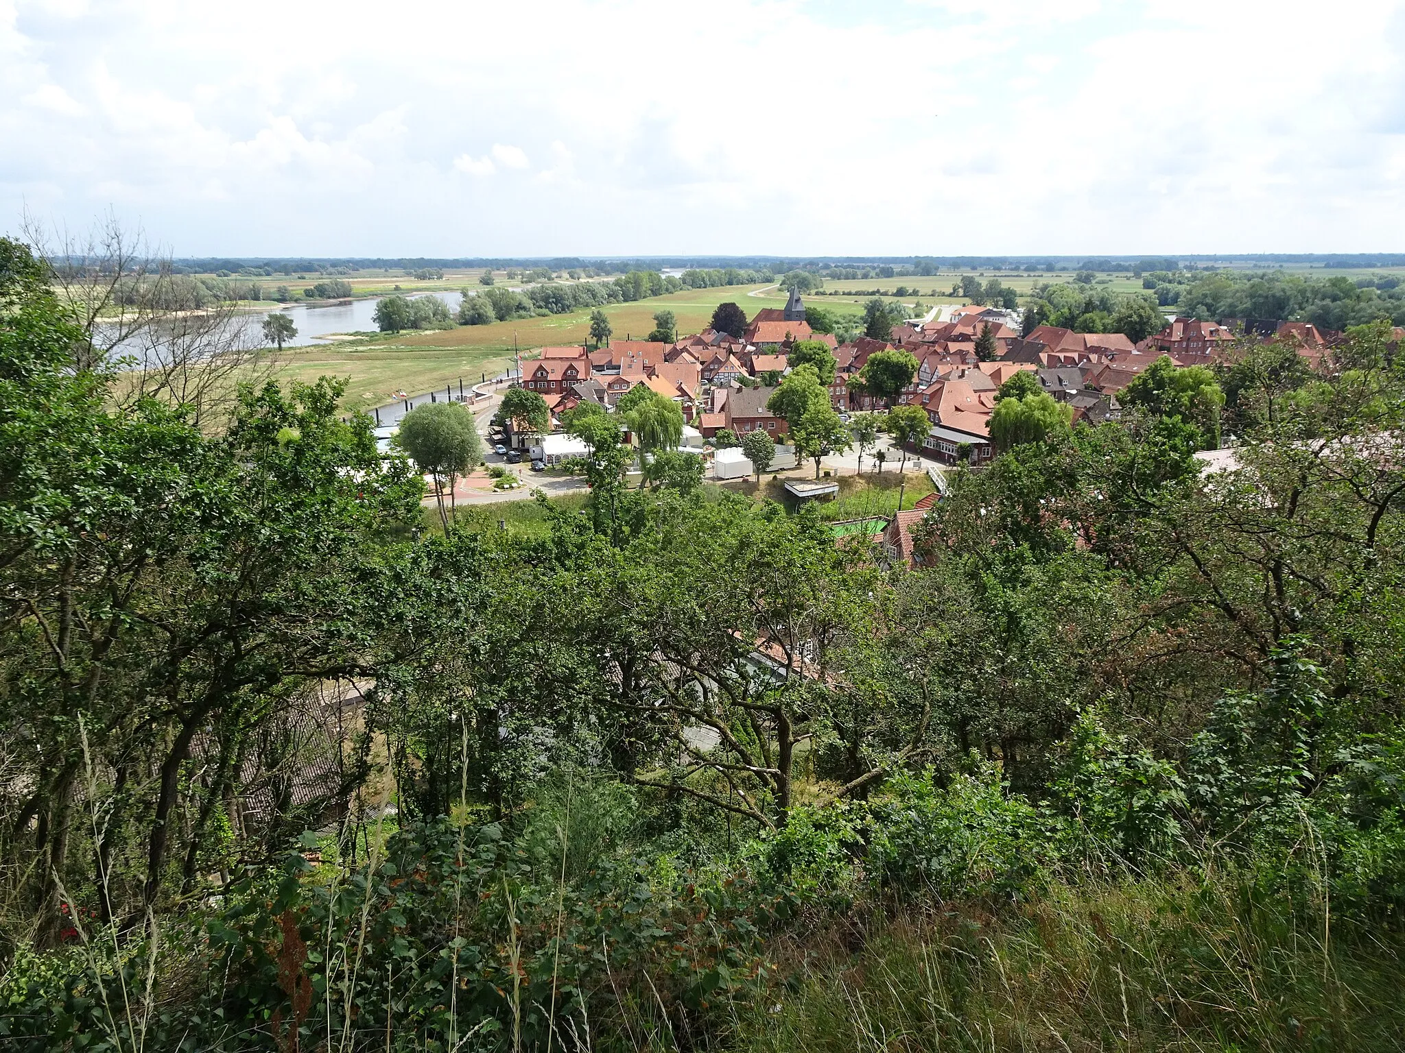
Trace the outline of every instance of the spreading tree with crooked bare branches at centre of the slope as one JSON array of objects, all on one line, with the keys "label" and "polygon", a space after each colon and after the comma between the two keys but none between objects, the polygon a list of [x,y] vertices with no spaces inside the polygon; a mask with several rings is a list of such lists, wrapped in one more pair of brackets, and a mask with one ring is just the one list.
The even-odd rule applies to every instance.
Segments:
[{"label": "spreading tree with crooked bare branches at centre of the slope", "polygon": [[[844,680],[843,642],[873,637],[864,619],[877,570],[813,517],[774,517],[753,503],[698,503],[674,512],[669,531],[687,543],[656,546],[646,560],[653,576],[628,605],[655,592],[688,602],[651,605],[646,633],[624,637],[628,650],[611,649],[621,653],[611,682],[638,670],[631,680],[639,684],[613,696],[641,723],[641,737],[643,729],[665,736],[662,755],[673,758],[648,765],[639,782],[783,828],[805,760],[797,746],[830,727],[826,685]],[[762,677],[759,639],[774,656]],[[698,726],[715,731],[702,746],[691,731]],[[687,778],[694,772],[710,778]],[[830,796],[853,795],[880,774],[865,771]]]}]

